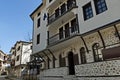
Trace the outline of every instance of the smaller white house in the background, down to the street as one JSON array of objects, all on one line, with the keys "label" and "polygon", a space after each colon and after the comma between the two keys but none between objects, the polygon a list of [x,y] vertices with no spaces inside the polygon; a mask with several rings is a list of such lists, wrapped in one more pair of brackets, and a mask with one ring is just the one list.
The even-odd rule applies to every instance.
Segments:
[{"label": "smaller white house in the background, down to the street", "polygon": [[11,67],[13,73],[20,77],[22,71],[26,68],[27,62],[30,61],[30,55],[32,53],[32,42],[17,41],[14,47],[10,50],[11,55]]}]

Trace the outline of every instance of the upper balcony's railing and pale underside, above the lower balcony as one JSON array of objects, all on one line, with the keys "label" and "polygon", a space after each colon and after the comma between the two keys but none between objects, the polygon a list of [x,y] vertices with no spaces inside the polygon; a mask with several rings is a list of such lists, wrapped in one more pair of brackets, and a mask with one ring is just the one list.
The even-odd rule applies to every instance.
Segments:
[{"label": "upper balcony's railing and pale underside, above the lower balcony", "polygon": [[66,21],[73,18],[77,12],[78,6],[76,6],[76,4],[73,4],[69,9],[66,9],[65,12],[59,13],[57,17],[55,16],[55,13],[51,14],[48,18],[48,27],[64,24]]}]

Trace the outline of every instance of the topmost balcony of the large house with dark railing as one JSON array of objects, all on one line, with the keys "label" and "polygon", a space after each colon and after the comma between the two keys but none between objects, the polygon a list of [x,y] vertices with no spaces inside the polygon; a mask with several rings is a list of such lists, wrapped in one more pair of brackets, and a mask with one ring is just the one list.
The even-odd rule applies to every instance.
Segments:
[{"label": "topmost balcony of the large house with dark railing", "polygon": [[75,0],[68,0],[67,4],[64,3],[60,6],[60,8],[57,8],[55,10],[55,13],[48,15],[48,25],[52,24],[54,21],[58,20],[63,15],[67,14],[69,11],[71,11],[73,8],[76,8],[76,1]]}]

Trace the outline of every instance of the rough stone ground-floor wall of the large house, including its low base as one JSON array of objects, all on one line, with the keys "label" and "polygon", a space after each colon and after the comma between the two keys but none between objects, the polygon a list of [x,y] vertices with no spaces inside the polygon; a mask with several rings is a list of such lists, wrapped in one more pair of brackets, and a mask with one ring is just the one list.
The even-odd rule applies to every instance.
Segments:
[{"label": "rough stone ground-floor wall of the large house, including its low base", "polygon": [[[120,31],[120,25],[116,25],[117,29]],[[119,38],[115,36],[114,26],[110,26],[106,29],[99,30],[101,33],[106,49],[120,46]],[[100,38],[100,34],[96,31],[88,35],[83,36],[89,53],[86,52],[86,64],[81,64],[80,49],[85,47],[81,38],[77,38],[73,43],[65,48],[60,47],[59,50],[55,51],[53,54],[57,58],[56,67],[59,67],[59,55],[66,58],[66,66],[68,66],[68,53],[72,51],[74,54],[78,54],[79,65],[75,66],[75,75],[68,75],[68,67],[54,68],[43,70],[40,75],[40,80],[120,80],[120,58],[117,57],[116,60],[109,59],[109,61],[95,62],[93,56],[92,46],[94,43],[99,43],[99,49],[102,54],[103,43]],[[102,59],[103,60],[103,59]],[[52,64],[52,61],[51,61]],[[50,67],[52,68],[52,66]]]}]

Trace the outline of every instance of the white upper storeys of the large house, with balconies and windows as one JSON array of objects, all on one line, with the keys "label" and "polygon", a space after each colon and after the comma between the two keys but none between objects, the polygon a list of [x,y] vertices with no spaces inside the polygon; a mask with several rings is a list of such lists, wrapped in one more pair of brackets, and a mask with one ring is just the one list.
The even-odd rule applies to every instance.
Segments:
[{"label": "white upper storeys of the large house, with balconies and windows", "polygon": [[119,5],[119,0],[43,0],[30,15],[33,53],[120,20]]}]

